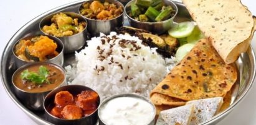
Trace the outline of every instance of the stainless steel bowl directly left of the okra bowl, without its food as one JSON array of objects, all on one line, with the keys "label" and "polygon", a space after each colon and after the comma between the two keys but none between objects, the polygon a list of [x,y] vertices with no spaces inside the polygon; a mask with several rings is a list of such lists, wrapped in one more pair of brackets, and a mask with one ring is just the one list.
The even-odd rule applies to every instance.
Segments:
[{"label": "stainless steel bowl directly left of the okra bowl, without its food", "polygon": [[[93,1],[95,0],[90,0],[86,2],[91,3]],[[116,0],[106,0],[106,1],[110,3],[115,3],[118,7],[121,6],[123,10],[125,9],[125,7],[123,6],[123,4],[121,4],[121,2],[118,2]],[[105,2],[105,0],[100,0],[100,2]],[[82,8],[82,5],[79,7],[79,13],[81,8]],[[82,14],[80,13],[80,15]],[[116,30],[116,28],[123,26],[124,12],[118,17],[115,17],[114,19],[110,19],[110,20],[95,20],[95,19],[89,19],[85,16],[83,17],[87,19],[88,32],[90,33],[90,35],[98,36],[100,33],[108,34],[111,31]]]}]

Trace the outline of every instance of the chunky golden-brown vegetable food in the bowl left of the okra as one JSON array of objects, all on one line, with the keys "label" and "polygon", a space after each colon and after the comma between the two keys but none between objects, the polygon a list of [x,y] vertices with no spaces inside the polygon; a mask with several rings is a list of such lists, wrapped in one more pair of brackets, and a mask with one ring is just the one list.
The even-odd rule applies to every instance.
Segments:
[{"label": "chunky golden-brown vegetable food in the bowl left of the okra", "polygon": [[85,2],[82,4],[80,14],[87,17],[88,19],[95,20],[110,20],[118,17],[123,13],[122,6],[110,2]]}]

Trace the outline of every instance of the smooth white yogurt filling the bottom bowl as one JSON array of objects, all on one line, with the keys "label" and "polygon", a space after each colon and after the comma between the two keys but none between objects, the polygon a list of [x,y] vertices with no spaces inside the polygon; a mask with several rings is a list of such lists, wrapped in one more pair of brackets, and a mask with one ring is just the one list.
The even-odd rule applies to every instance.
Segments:
[{"label": "smooth white yogurt filling the bottom bowl", "polygon": [[99,116],[108,125],[147,125],[154,119],[155,110],[141,98],[116,97],[101,106]]}]

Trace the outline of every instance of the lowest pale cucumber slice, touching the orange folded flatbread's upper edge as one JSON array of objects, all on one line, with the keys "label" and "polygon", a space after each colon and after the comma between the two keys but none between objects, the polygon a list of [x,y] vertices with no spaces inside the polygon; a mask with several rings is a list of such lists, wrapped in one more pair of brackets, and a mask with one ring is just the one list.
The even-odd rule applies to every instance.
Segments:
[{"label": "lowest pale cucumber slice, touching the orange folded flatbread's upper edge", "polygon": [[192,50],[193,47],[194,47],[194,44],[191,44],[191,43],[187,43],[179,47],[176,52],[176,61],[179,63],[179,61],[181,61],[187,55],[187,53],[189,53],[189,51]]}]

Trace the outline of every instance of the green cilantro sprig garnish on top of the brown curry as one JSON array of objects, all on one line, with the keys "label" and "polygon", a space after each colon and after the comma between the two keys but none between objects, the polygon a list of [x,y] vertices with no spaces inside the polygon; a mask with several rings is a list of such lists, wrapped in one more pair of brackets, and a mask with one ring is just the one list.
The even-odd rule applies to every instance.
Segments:
[{"label": "green cilantro sprig garnish on top of the brown curry", "polygon": [[49,80],[47,79],[48,75],[49,75],[48,69],[44,66],[40,66],[38,74],[36,72],[29,72],[29,70],[27,69],[21,72],[21,79],[30,80],[35,84],[42,84],[44,82],[46,82],[47,84],[50,84]]}]

